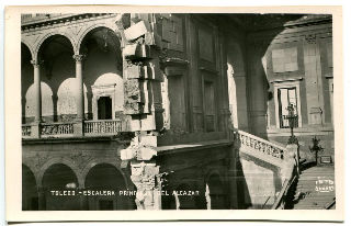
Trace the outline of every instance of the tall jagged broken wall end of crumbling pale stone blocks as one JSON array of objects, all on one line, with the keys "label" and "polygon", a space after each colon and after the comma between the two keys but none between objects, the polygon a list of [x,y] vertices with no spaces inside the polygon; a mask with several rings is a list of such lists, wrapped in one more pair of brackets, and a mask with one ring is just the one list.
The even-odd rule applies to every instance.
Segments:
[{"label": "tall jagged broken wall end of crumbling pale stone blocks", "polygon": [[[154,19],[144,14],[118,14],[116,26],[123,46],[124,114],[135,132],[131,146],[121,151],[121,159],[131,161],[131,179],[137,188],[138,210],[161,210],[161,181],[157,155],[157,114],[161,105],[159,48],[155,46]],[[155,26],[151,26],[154,23]],[[162,124],[162,123],[159,123]]]}]

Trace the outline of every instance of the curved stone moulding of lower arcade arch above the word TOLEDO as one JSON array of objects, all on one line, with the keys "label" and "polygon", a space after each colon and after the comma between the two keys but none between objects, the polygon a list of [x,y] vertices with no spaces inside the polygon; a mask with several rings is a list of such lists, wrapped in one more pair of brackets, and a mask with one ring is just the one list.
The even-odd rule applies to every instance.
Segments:
[{"label": "curved stone moulding of lower arcade arch above the word TOLEDO", "polygon": [[52,158],[43,165],[43,167],[39,170],[38,177],[37,177],[38,184],[41,184],[41,185],[43,184],[43,177],[44,177],[45,171],[48,168],[50,168],[52,166],[57,165],[57,163],[66,165],[75,172],[75,174],[78,179],[78,184],[77,184],[78,187],[83,184],[82,179],[81,179],[81,173],[80,173],[78,166],[73,161],[71,161],[70,159],[65,158],[65,157]]}]

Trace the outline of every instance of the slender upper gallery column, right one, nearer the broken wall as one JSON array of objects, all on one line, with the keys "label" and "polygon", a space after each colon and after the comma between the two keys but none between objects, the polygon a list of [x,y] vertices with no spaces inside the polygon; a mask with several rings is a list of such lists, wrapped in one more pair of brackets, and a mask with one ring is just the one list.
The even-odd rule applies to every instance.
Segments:
[{"label": "slender upper gallery column, right one, nearer the broken wall", "polygon": [[73,125],[73,133],[76,135],[83,135],[83,120],[84,120],[84,89],[82,75],[82,59],[83,55],[73,55],[76,60],[76,79],[77,79],[77,118]]}]

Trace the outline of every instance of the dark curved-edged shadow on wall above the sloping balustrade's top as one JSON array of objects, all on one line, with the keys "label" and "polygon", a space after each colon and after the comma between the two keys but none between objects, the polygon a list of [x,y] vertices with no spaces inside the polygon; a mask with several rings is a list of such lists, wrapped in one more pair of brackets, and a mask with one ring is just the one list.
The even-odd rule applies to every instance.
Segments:
[{"label": "dark curved-edged shadow on wall above the sloping balustrade's top", "polygon": [[[256,15],[258,16],[258,15]],[[263,23],[267,26],[270,22],[273,27],[263,33],[262,30],[247,32],[247,72],[249,89],[249,127],[250,132],[264,139],[268,138],[268,104],[273,99],[272,87],[268,79],[265,54],[273,39],[284,31],[284,24],[296,21],[304,16],[303,14],[264,14],[256,20],[258,25]],[[275,19],[276,18],[276,19]]]}]

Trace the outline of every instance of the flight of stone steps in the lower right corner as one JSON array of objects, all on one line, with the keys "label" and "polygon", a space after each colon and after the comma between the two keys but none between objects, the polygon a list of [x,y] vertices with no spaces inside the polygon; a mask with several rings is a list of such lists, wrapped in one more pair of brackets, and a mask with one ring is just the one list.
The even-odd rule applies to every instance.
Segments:
[{"label": "flight of stone steps in the lower right corner", "polygon": [[335,190],[333,166],[317,166],[305,169],[298,178],[292,208],[336,208]]}]

